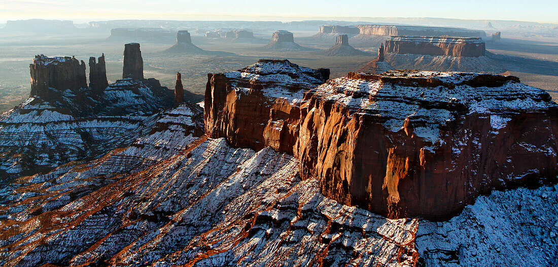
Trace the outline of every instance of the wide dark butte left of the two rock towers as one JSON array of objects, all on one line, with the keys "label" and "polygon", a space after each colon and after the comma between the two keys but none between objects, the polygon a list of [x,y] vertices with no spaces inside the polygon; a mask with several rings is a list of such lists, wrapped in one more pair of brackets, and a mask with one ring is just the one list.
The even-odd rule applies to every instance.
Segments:
[{"label": "wide dark butte left of the two rock towers", "polygon": [[45,100],[52,97],[51,88],[57,91],[87,88],[85,62],[75,57],[47,57],[37,55],[29,65],[31,73],[31,96]]}]

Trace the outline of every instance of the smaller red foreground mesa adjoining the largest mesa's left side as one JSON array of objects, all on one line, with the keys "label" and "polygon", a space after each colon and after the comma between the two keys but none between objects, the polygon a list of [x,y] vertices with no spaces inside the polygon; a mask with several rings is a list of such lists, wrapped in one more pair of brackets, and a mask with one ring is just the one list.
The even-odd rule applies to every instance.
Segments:
[{"label": "smaller red foreground mesa adjoining the largest mesa's left side", "polygon": [[328,78],[329,69],[299,67],[288,60],[259,60],[235,72],[209,73],[206,133],[237,147],[272,146],[292,154],[300,120],[297,106],[304,92]]}]

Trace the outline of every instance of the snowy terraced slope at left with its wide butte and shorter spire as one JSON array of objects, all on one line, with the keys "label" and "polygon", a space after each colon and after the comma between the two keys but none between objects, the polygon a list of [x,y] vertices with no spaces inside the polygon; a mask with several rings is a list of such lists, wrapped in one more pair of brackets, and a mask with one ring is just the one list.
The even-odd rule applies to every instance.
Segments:
[{"label": "snowy terraced slope at left with its wide butte and shorter spire", "polygon": [[153,78],[102,85],[104,57],[91,59],[88,88],[84,62],[35,58],[31,97],[0,116],[0,177],[33,175],[131,144],[172,107],[172,91]]}]

